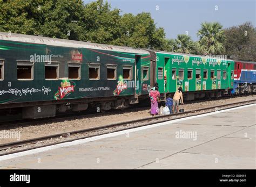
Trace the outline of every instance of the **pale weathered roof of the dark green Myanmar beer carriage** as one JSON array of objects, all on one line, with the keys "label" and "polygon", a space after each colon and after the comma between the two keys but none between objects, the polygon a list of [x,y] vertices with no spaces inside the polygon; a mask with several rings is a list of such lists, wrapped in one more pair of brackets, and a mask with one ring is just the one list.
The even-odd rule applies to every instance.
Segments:
[{"label": "pale weathered roof of the dark green Myanmar beer carriage", "polygon": [[6,33],[6,32],[0,32],[0,40],[28,42],[30,44],[43,44],[43,45],[49,45],[49,46],[91,48],[91,49],[101,49],[106,51],[117,51],[117,52],[124,52],[124,53],[150,54],[149,52],[143,49],[137,49],[133,47],[95,44],[91,42],[48,38],[48,37],[41,37],[37,35],[25,35],[25,34],[15,34],[15,33],[11,33],[11,35],[9,35],[9,33]]}]

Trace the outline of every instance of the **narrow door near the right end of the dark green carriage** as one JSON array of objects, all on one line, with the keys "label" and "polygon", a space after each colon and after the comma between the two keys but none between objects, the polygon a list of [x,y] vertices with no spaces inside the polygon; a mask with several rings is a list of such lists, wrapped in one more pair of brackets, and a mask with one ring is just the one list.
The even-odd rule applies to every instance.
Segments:
[{"label": "narrow door near the right end of the dark green carriage", "polygon": [[135,85],[135,93],[137,95],[141,94],[141,83],[142,83],[142,61],[141,56],[135,56],[135,77],[134,77],[134,85]]}]

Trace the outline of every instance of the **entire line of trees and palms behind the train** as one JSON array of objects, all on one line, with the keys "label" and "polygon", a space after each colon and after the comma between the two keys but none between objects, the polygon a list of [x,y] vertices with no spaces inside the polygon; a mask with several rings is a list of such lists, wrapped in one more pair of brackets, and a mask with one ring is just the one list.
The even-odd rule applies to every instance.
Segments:
[{"label": "entire line of trees and palms behind the train", "polygon": [[251,23],[224,30],[217,22],[205,22],[198,41],[185,34],[166,39],[164,28],[156,26],[150,13],[120,12],[103,0],[0,0],[0,31],[256,61],[256,30]]}]

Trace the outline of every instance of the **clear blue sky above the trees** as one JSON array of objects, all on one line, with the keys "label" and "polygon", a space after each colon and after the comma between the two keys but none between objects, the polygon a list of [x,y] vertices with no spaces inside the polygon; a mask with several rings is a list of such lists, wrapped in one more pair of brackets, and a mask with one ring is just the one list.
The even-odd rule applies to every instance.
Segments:
[{"label": "clear blue sky above the trees", "polygon": [[[106,0],[105,0],[106,1]],[[92,0],[84,0],[84,3]],[[218,21],[224,28],[251,21],[256,26],[256,0],[107,0],[124,13],[150,12],[157,27],[164,27],[166,38],[177,34],[198,40],[203,21]],[[159,10],[156,10],[156,8]],[[217,7],[218,6],[218,7]],[[218,10],[215,10],[218,9]]]}]

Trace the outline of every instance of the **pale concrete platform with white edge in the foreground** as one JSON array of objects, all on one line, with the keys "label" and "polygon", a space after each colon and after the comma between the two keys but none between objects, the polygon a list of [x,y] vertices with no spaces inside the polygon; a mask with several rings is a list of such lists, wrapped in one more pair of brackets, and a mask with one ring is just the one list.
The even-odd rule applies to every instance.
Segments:
[{"label": "pale concrete platform with white edge in the foreground", "polygon": [[255,124],[254,104],[0,157],[0,169],[256,169]]}]

